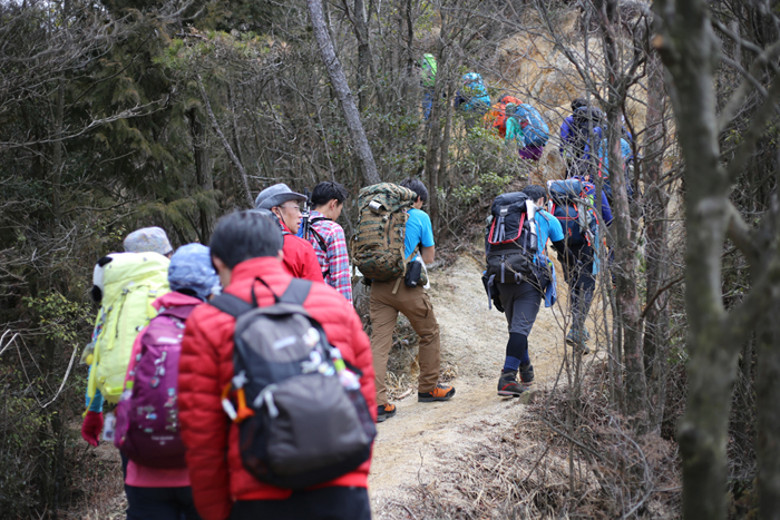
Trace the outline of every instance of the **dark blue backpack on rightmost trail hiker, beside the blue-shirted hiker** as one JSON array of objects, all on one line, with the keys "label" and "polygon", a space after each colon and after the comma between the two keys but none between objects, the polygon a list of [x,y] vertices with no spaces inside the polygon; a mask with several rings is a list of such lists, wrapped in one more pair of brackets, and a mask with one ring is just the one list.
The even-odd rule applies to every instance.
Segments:
[{"label": "dark blue backpack on rightmost trail hiker, beside the blue-shirted hiker", "polygon": [[593,244],[597,223],[587,210],[588,184],[576,178],[547,181],[549,213],[560,222],[567,245]]}]

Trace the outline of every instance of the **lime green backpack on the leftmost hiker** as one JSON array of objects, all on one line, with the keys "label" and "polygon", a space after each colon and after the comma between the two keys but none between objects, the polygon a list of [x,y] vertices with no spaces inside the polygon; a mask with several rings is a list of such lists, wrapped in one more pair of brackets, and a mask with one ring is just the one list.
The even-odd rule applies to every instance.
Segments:
[{"label": "lime green backpack on the leftmost hiker", "polygon": [[99,390],[109,403],[119,402],[133,343],[157,315],[152,302],[168,287],[170,261],[158,253],[118,253],[104,267],[103,302],[95,327],[87,395]]}]

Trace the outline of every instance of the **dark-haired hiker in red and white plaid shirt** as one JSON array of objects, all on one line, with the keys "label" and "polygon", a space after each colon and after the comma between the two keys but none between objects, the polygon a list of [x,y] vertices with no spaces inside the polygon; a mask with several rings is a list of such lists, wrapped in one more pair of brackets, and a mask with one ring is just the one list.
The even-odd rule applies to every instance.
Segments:
[{"label": "dark-haired hiker in red and white plaid shirt", "polygon": [[352,303],[350,258],[347,253],[344,229],[335,223],[344,208],[349,192],[343,185],[325,180],[314,186],[309,215],[309,236],[304,237],[314,247],[325,283]]}]

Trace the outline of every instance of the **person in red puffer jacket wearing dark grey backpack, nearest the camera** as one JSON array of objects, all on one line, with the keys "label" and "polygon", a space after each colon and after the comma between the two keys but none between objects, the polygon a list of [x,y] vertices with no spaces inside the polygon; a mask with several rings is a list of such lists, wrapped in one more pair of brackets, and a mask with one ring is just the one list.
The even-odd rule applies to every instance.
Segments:
[{"label": "person in red puffer jacket wearing dark grey backpack, nearest the camera", "polygon": [[[266,458],[284,458],[293,447],[295,450],[292,451],[298,453],[299,436],[304,444],[318,444],[319,441],[332,440],[333,432],[339,429],[340,419],[306,426],[306,416],[301,415],[301,410],[313,416],[324,408],[332,411],[328,400],[335,394],[330,390],[315,391],[306,382],[328,379],[328,370],[322,370],[322,363],[319,366],[316,364],[322,361],[318,352],[312,350],[309,357],[311,361],[303,360],[313,365],[306,369],[309,375],[291,376],[300,374],[306,364],[294,361],[299,360],[298,350],[306,345],[319,345],[324,337],[340,351],[344,364],[354,369],[350,369],[350,374],[354,376],[362,373],[359,380],[355,377],[353,381],[359,386],[355,399],[363,403],[364,418],[374,428],[376,390],[371,349],[360,317],[331,287],[293,278],[286,272],[281,262],[283,237],[279,226],[257,212],[241,212],[223,217],[214,229],[209,246],[212,262],[224,288],[221,296],[197,307],[187,320],[178,376],[182,439],[187,448],[189,481],[199,514],[205,520],[370,519],[367,490],[370,445],[365,450],[365,461],[357,468],[339,473],[339,477],[319,485],[305,485],[295,490],[261,481],[263,474],[270,475],[272,467],[267,461],[257,459],[263,454]],[[301,287],[303,290],[299,291]],[[294,288],[290,300],[286,292],[289,288]],[[324,334],[318,332],[315,324],[302,314],[295,314],[295,323],[303,321],[305,325],[302,330],[309,331],[304,335],[305,343],[298,335],[298,330],[293,334],[293,331],[274,328],[274,322],[267,317],[266,325],[252,328],[251,334],[240,334],[236,331],[234,336],[234,330],[241,323],[246,326],[260,323],[244,318],[244,311],[250,311],[245,315],[253,314],[253,308],[272,306],[277,297],[291,302],[285,303],[287,308],[300,310],[302,305],[319,322]],[[215,306],[221,298],[227,300],[223,300],[220,305],[228,302],[234,308],[246,308],[228,314],[221,310],[226,307]],[[236,321],[235,315],[241,315],[242,320]],[[272,330],[269,335],[263,334],[266,327]],[[254,350],[255,342],[261,341],[265,342],[261,345],[262,350]],[[256,352],[271,352],[279,356],[279,362],[271,370],[272,365],[263,359],[265,364],[248,364],[236,374],[237,361],[243,363],[251,359],[251,363],[260,363],[259,354],[245,357]],[[313,354],[318,354],[318,360],[314,360]],[[256,377],[269,374],[283,374],[285,382],[292,380],[292,386],[285,386],[287,390],[282,392],[285,382],[271,389],[255,385]],[[332,381],[332,372],[330,375],[329,381]],[[335,383],[341,384],[339,377]],[[257,393],[261,389],[264,393]],[[257,395],[253,396],[252,392]],[[295,410],[294,414],[291,409]],[[232,415],[228,416],[228,413]],[[243,419],[241,424],[231,420],[235,416],[236,421],[242,421],[238,413]],[[285,435],[274,435],[271,431],[266,438],[262,433],[255,435],[257,430],[247,433],[247,429],[259,428],[257,421],[266,422],[267,428],[276,428],[275,424],[285,421],[285,418],[287,422],[301,422],[302,428],[294,435],[289,430]],[[247,434],[252,435],[251,443],[244,436]],[[341,441],[341,438],[335,440]],[[284,443],[284,450],[270,448],[271,442]],[[261,449],[260,454],[254,451],[255,448]],[[246,450],[251,451],[252,462],[247,462]],[[303,457],[299,463],[309,463],[315,455]]]}]

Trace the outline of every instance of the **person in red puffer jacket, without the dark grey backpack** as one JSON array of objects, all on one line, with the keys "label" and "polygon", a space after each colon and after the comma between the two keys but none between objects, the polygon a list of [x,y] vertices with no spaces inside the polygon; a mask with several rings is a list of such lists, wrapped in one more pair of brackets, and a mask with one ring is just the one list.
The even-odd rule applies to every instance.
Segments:
[{"label": "person in red puffer jacket, without the dark grey backpack", "polygon": [[[282,265],[282,234],[270,218],[242,212],[220,220],[211,241],[212,261],[225,293],[259,306],[274,303],[292,276]],[[318,268],[319,271],[319,268]],[[260,277],[267,287],[255,283]],[[254,286],[254,287],[253,287]],[[344,360],[362,371],[361,393],[376,420],[371,345],[352,306],[335,290],[313,284],[303,303]],[[243,467],[238,426],[222,408],[222,389],[233,371],[235,320],[203,305],[187,320],[179,362],[179,421],[195,506],[205,520],[369,520],[370,459],[355,470],[314,489],[293,491],[265,484]]]}]

